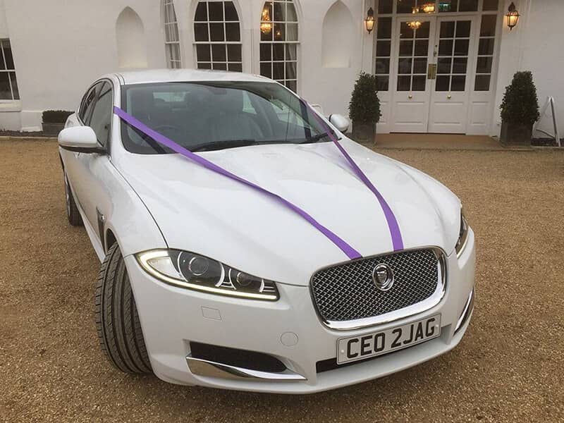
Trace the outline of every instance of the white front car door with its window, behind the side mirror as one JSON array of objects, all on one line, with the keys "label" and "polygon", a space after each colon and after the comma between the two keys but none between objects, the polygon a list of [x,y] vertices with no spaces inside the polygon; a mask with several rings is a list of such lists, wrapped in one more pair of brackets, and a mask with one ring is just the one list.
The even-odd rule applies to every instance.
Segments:
[{"label": "white front car door with its window, behind the side mirror", "polygon": [[109,190],[106,186],[109,166],[109,144],[111,134],[111,118],[114,106],[114,92],[111,82],[104,81],[95,85],[95,101],[92,106],[87,105],[85,118],[82,121],[94,130],[99,144],[108,154],[78,154],[75,168],[75,178],[78,181],[75,195],[78,197],[82,212],[88,223],[99,235],[103,245],[104,212],[109,207]]}]

